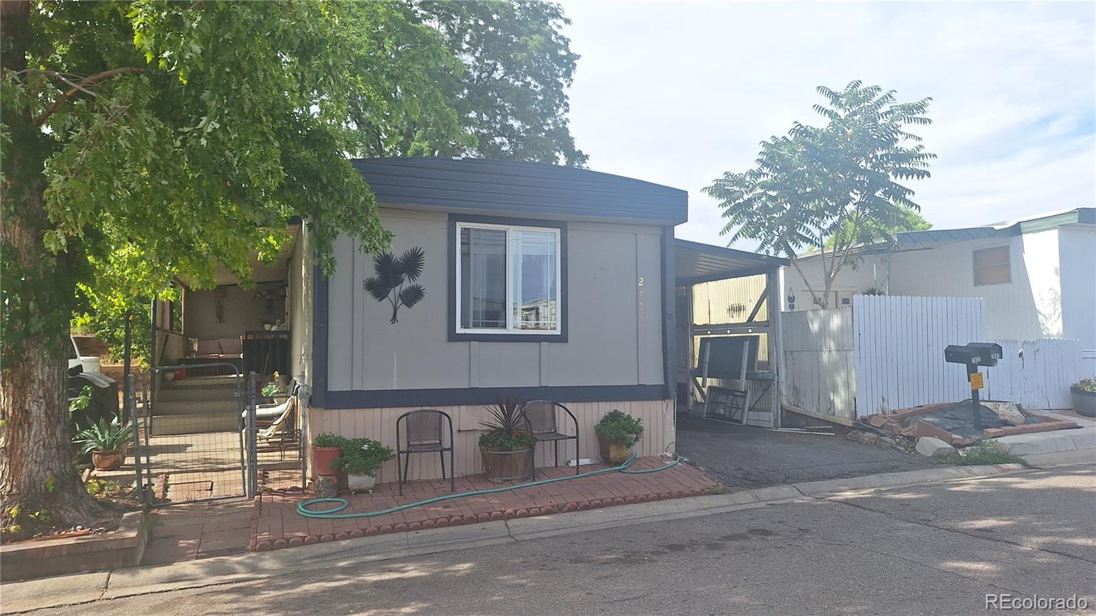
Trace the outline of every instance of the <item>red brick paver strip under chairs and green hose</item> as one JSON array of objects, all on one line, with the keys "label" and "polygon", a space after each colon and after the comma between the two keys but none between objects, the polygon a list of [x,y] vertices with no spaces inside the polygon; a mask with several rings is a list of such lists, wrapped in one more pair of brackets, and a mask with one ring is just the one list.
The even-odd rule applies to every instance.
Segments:
[{"label": "red brick paver strip under chairs and green hose", "polygon": [[[638,458],[632,469],[655,468],[664,460]],[[582,470],[606,468],[592,465]],[[574,469],[537,469],[537,479],[572,475]],[[483,476],[458,477],[457,492],[499,488]],[[372,494],[346,497],[350,506],[341,513],[366,513],[448,494],[449,482],[441,479],[412,481],[400,497],[395,483],[377,486]],[[512,492],[483,494],[416,506],[397,513],[354,520],[316,520],[297,513],[297,503],[311,498],[300,492],[266,492],[256,499],[256,515],[250,548],[262,551],[302,544],[316,544],[363,535],[400,533],[438,526],[472,524],[491,520],[526,517],[558,512],[595,509],[625,503],[647,502],[708,493],[719,483],[685,465],[646,475],[607,472]],[[313,509],[320,509],[319,505]]]}]

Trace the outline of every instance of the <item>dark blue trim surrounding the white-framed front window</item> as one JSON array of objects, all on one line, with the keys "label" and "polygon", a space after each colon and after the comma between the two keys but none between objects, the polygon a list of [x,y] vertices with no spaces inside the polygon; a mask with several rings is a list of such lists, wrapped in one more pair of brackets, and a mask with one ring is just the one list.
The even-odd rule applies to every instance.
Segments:
[{"label": "dark blue trim surrounding the white-framed front window", "polygon": [[[457,260],[455,256],[457,253],[457,223],[483,223],[488,225],[513,225],[517,227],[544,227],[559,229],[559,333],[457,333]],[[567,223],[561,220],[539,220],[533,218],[449,214],[447,236],[448,253],[446,260],[449,272],[449,288],[447,290],[448,309],[446,311],[446,317],[448,322],[446,324],[446,331],[448,332],[449,342],[567,342],[567,280],[570,277],[567,271]]]}]

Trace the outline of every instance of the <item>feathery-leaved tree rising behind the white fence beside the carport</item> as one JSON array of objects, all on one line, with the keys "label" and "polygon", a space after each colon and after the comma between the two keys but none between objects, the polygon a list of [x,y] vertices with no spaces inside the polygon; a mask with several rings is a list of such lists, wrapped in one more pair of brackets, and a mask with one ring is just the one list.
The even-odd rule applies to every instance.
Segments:
[{"label": "feathery-leaved tree rising behind the white fence beside the carport", "polygon": [[[899,182],[928,178],[936,155],[907,130],[932,123],[925,115],[932,99],[899,103],[893,90],[860,81],[818,92],[827,102],[814,105],[824,126],[795,123],[786,136],[762,141],[754,169],[727,172],[703,192],[723,208],[721,235],[757,240],[761,251],[791,259],[825,307],[837,272],[858,262],[855,249],[921,210],[913,190]],[[795,259],[811,248],[821,254],[822,288]]]}]

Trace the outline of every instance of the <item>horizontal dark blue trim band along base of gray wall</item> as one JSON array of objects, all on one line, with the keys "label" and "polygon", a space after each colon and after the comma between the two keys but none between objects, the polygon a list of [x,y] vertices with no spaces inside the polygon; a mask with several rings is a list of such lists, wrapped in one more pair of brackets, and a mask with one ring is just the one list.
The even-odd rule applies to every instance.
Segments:
[{"label": "horizontal dark blue trim band along base of gray wall", "polygon": [[328,391],[324,409],[379,409],[490,404],[503,395],[518,400],[616,402],[667,400],[662,385],[583,385],[571,387],[473,387],[453,389],[372,389]]}]

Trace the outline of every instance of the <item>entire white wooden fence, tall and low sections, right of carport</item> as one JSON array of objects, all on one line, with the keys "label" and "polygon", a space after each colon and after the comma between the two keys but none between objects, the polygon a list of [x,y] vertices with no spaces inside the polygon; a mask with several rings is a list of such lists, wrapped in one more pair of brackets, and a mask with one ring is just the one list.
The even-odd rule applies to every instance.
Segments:
[{"label": "entire white wooden fence, tall and low sections, right of carport", "polygon": [[[894,296],[856,296],[852,308],[785,312],[783,402],[847,420],[964,400],[966,370],[945,362],[944,349],[986,341],[984,315],[981,298]],[[1003,357],[983,368],[983,398],[1030,410],[1072,408],[1070,384],[1083,372],[1078,341],[989,342],[1001,344]]]}]

